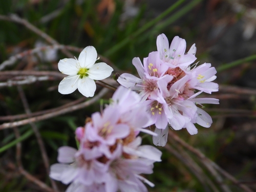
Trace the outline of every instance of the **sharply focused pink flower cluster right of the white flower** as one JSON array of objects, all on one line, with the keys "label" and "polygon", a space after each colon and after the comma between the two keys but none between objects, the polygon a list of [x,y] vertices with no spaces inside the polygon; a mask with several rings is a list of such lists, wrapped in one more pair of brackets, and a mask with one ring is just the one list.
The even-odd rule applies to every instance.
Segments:
[{"label": "sharply focused pink flower cluster right of the white flower", "polygon": [[186,128],[191,135],[198,133],[194,123],[210,127],[211,117],[202,110],[202,104],[219,104],[215,98],[196,98],[202,92],[218,91],[218,84],[211,82],[217,71],[210,63],[191,65],[196,60],[196,46],[187,53],[185,49],[185,39],[176,36],[169,46],[167,37],[161,34],[157,37],[157,51],[148,54],[143,65],[138,57],[132,61],[140,78],[124,73],[117,80],[122,86],[140,92],[156,126],[155,145],[166,144],[168,126],[174,130]]}]

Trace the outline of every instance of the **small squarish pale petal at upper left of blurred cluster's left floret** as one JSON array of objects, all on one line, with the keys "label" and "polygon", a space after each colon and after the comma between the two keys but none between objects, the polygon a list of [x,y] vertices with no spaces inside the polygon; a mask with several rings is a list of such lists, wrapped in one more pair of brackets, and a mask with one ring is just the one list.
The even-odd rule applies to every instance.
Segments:
[{"label": "small squarish pale petal at upper left of blurred cluster's left floret", "polygon": [[61,146],[58,148],[57,160],[60,163],[72,163],[75,161],[75,153],[77,150],[70,146]]}]

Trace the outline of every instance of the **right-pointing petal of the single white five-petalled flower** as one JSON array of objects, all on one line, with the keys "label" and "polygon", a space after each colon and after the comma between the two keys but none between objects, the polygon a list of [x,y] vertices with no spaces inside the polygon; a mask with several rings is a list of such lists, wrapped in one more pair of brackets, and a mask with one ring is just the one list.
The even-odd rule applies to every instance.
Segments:
[{"label": "right-pointing petal of the single white five-petalled flower", "polygon": [[95,63],[88,71],[88,77],[94,80],[102,80],[111,75],[113,68],[104,62]]}]

